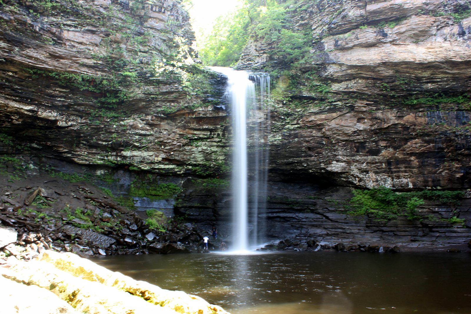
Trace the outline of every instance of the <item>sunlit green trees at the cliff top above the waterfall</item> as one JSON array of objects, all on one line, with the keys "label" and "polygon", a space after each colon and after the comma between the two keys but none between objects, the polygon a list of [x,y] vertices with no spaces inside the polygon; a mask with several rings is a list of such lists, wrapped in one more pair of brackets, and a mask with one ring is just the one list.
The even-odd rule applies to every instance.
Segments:
[{"label": "sunlit green trees at the cliff top above the waterfall", "polygon": [[[273,45],[273,56],[283,56],[284,64],[302,62],[310,50],[310,28],[296,30],[287,16],[308,1],[244,0],[233,14],[219,17],[213,32],[204,40],[201,58],[207,65],[234,65],[248,40]],[[292,5],[295,5],[294,8]],[[306,7],[309,5],[306,5]]]}]

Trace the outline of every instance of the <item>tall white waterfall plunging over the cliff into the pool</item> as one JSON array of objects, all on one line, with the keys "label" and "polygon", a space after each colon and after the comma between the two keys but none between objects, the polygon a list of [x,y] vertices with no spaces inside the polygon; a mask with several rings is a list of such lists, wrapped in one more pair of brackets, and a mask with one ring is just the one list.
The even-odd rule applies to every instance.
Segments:
[{"label": "tall white waterfall plunging over the cliff into the pool", "polygon": [[[267,198],[269,109],[268,75],[211,67],[227,76],[233,127],[232,251],[246,251],[263,241]],[[251,151],[248,151],[251,147]],[[250,234],[250,235],[249,235]]]}]

